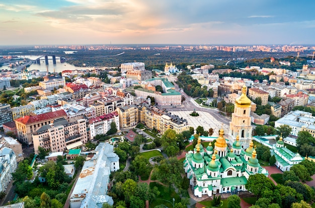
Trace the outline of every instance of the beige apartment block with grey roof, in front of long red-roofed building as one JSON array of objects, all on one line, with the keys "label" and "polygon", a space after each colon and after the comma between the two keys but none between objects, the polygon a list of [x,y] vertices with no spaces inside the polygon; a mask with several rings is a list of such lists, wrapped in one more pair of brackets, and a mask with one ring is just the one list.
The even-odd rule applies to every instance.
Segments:
[{"label": "beige apartment block with grey roof, in front of long red-roofed building", "polygon": [[32,136],[35,154],[38,154],[38,147],[53,153],[81,147],[89,141],[87,128],[83,116],[58,118],[42,125]]}]

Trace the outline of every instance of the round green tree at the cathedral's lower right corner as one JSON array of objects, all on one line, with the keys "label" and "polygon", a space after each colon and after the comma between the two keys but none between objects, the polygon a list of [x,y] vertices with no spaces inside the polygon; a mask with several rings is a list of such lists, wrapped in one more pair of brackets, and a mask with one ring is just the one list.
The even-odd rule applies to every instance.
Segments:
[{"label": "round green tree at the cathedral's lower right corner", "polygon": [[272,190],[274,188],[274,184],[264,174],[255,174],[250,175],[245,187],[247,190],[253,192],[258,199],[262,196],[265,190]]}]

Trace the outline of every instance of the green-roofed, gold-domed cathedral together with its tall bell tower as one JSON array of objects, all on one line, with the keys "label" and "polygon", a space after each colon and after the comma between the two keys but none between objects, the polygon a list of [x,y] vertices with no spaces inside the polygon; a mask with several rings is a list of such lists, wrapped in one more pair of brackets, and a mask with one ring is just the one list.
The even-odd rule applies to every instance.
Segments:
[{"label": "green-roofed, gold-domed cathedral together with its tall bell tower", "polygon": [[260,166],[256,157],[252,141],[251,100],[246,91],[244,86],[242,95],[235,100],[228,136],[231,148],[227,147],[224,130],[220,129],[214,148],[211,143],[204,148],[199,138],[194,151],[186,154],[184,169],[195,196],[247,191],[245,185],[250,175],[262,173],[268,176],[268,171]]}]

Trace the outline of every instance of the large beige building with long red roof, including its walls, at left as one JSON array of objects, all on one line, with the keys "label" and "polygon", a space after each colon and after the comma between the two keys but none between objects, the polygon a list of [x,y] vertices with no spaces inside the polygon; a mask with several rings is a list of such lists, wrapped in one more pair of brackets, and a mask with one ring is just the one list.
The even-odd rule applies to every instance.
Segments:
[{"label": "large beige building with long red roof, including its walls, at left", "polygon": [[38,127],[48,125],[58,118],[66,118],[67,114],[64,110],[43,113],[40,115],[27,115],[15,120],[18,132],[18,140],[27,145],[33,144],[32,134]]}]

